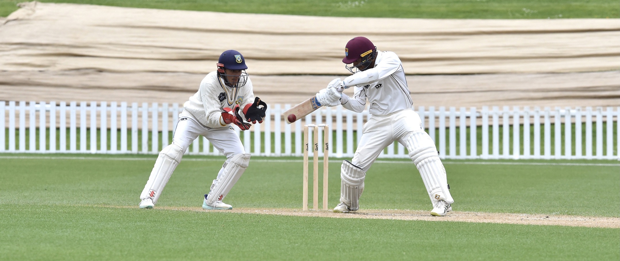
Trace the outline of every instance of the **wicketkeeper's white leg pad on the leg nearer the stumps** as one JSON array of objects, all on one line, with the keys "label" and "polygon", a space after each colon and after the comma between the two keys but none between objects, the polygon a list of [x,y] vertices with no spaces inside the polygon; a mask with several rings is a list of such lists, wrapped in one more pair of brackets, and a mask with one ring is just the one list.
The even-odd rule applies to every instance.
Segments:
[{"label": "wicketkeeper's white leg pad on the leg nearer the stumps", "polygon": [[217,185],[211,189],[206,199],[207,204],[213,204],[217,200],[223,200],[226,194],[231,190],[232,186],[246,171],[250,163],[250,154],[237,154],[229,159],[228,164],[224,167],[224,173]]}]

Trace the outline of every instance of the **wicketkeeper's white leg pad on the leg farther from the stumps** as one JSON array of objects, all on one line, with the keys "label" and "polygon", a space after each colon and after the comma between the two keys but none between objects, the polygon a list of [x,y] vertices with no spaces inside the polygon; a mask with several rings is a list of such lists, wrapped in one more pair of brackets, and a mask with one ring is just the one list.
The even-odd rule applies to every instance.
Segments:
[{"label": "wicketkeeper's white leg pad on the leg farther from the stumps", "polygon": [[181,157],[183,157],[183,149],[175,144],[170,144],[161,150],[149,176],[149,181],[146,182],[146,186],[142,190],[140,199],[151,198],[153,204],[157,203],[157,199],[170,179],[170,175],[179,166]]}]

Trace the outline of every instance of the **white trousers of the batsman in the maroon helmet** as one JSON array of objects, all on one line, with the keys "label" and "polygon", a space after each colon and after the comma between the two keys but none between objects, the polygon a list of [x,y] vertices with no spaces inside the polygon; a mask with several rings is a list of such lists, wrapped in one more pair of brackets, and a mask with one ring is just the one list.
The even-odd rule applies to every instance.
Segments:
[{"label": "white trousers of the batsman in the maroon helmet", "polygon": [[[367,172],[389,144],[398,141],[406,148],[407,136],[419,130],[422,130],[422,123],[414,110],[401,110],[381,116],[371,115],[362,128],[363,135],[351,162]],[[407,149],[412,151],[413,148]]]}]

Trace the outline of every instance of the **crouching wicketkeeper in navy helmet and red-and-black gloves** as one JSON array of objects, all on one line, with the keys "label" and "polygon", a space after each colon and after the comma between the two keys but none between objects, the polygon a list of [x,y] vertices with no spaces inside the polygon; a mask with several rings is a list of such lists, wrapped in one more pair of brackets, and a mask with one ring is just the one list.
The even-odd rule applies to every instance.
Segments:
[{"label": "crouching wicketkeeper in navy helmet and red-and-black gloves", "polygon": [[[140,208],[153,208],[170,175],[179,165],[185,149],[202,135],[226,156],[226,161],[205,194],[205,210],[231,210],[222,200],[246,170],[250,154],[232,129],[231,123],[248,130],[250,122],[262,122],[267,104],[254,97],[252,82],[246,73],[246,60],[235,50],[219,56],[218,70],[207,74],[200,89],[185,102],[172,144],[159,153],[151,176],[140,194]],[[243,108],[242,113],[239,109]]]}]

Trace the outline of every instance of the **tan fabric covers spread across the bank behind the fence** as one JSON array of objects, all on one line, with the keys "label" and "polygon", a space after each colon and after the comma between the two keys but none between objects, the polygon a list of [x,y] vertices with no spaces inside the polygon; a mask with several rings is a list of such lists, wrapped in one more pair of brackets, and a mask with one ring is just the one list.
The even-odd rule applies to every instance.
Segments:
[{"label": "tan fabric covers spread across the bank behind the fence", "polygon": [[0,20],[0,100],[187,100],[224,50],[297,104],[352,37],[396,52],[416,106],[620,106],[620,19],[385,19],[29,2]]}]

